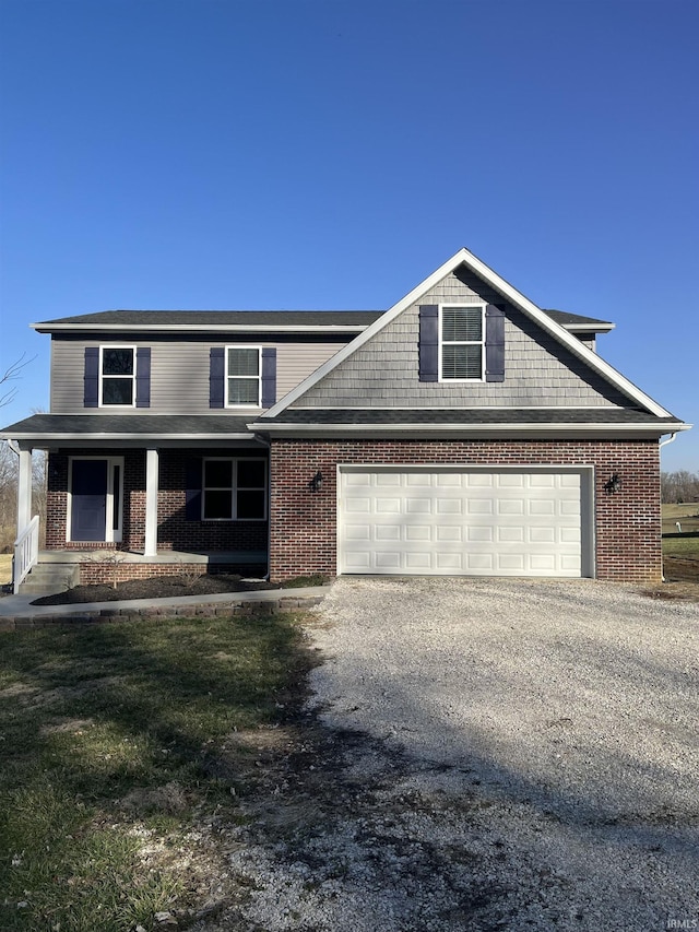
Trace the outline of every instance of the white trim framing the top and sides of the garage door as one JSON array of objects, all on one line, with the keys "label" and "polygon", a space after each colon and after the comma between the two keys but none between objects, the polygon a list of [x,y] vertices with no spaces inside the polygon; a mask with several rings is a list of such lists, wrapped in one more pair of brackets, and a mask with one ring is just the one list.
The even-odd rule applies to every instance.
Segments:
[{"label": "white trim framing the top and sides of the garage door", "polygon": [[590,463],[559,465],[558,463],[336,463],[335,465],[335,574],[342,575],[341,567],[341,530],[343,510],[342,481],[343,472],[400,472],[401,470],[425,470],[428,472],[439,471],[463,471],[463,472],[554,472],[579,473],[580,474],[580,576],[581,578],[596,578],[596,527],[595,527],[595,471],[596,467]]}]

